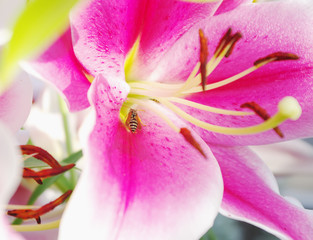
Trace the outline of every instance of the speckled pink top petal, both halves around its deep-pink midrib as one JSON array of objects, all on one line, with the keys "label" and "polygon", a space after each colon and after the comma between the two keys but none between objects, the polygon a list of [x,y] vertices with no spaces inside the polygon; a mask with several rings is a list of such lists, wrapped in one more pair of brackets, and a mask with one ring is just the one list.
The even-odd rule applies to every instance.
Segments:
[{"label": "speckled pink top petal, both halves around its deep-pink midrib", "polygon": [[72,14],[75,54],[94,76],[124,71],[126,54],[140,36],[139,63],[134,64],[132,73],[149,73],[164,54],[163,49],[173,45],[197,21],[213,15],[219,5],[220,1],[90,1],[87,8]]}]

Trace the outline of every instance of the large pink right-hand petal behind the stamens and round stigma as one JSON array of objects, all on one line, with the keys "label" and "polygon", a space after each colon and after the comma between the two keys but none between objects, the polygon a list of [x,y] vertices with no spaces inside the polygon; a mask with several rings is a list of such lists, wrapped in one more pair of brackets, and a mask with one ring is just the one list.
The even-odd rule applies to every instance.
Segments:
[{"label": "large pink right-hand petal behind the stamens and round stigma", "polygon": [[[279,101],[285,96],[293,96],[299,101],[303,112],[296,122],[286,121],[281,125],[284,140],[312,136],[312,8],[312,3],[307,1],[243,4],[233,11],[209,17],[180,38],[152,74],[157,73],[159,81],[185,81],[199,61],[199,28],[204,29],[209,39],[209,53],[212,55],[220,38],[232,27],[233,32],[242,33],[243,39],[236,44],[232,55],[224,59],[208,77],[209,83],[234,76],[252,67],[257,59],[273,52],[294,53],[299,55],[300,59],[270,63],[237,82],[194,94],[188,99],[230,110],[242,110],[241,104],[255,101],[270,115],[274,115]],[[296,29],[294,23],[297,23]],[[198,119],[221,126],[243,127],[263,122],[258,116],[243,118],[198,110],[188,112]],[[206,130],[197,132],[208,143],[225,145],[254,145],[281,141],[272,130],[249,136],[227,136]]]}]

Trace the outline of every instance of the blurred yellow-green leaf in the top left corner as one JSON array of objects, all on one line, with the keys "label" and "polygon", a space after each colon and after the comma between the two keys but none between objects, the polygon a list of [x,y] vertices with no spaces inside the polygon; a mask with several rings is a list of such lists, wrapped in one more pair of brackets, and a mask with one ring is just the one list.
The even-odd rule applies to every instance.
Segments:
[{"label": "blurred yellow-green leaf in the top left corner", "polygon": [[20,60],[39,54],[66,30],[69,12],[78,1],[34,0],[27,4],[3,50],[0,89],[8,85]]}]

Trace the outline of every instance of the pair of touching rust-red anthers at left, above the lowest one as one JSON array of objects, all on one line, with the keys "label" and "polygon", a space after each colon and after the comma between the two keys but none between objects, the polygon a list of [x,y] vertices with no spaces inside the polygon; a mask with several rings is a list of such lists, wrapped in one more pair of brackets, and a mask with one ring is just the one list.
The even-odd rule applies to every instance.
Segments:
[{"label": "pair of touching rust-red anthers at left, above the lowest one", "polygon": [[20,146],[23,155],[32,155],[34,158],[45,162],[48,164],[51,169],[44,169],[38,172],[30,169],[24,168],[23,177],[24,178],[33,178],[38,184],[42,184],[42,178],[48,178],[55,175],[59,175],[61,173],[70,170],[75,166],[75,164],[71,163],[65,166],[61,166],[54,157],[51,156],[47,151],[43,150],[40,147],[32,146],[32,145],[21,145]]}]

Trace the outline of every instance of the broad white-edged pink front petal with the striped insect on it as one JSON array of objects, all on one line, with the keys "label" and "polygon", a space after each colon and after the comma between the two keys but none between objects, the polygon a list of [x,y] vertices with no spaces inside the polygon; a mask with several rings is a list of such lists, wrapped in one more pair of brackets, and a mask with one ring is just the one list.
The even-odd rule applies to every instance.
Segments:
[{"label": "broad white-edged pink front petal with the striped insect on it", "polygon": [[199,239],[221,201],[219,167],[199,137],[207,159],[147,109],[138,111],[142,129],[128,132],[119,119],[128,91],[123,81],[99,76],[93,82],[96,125],[85,145],[88,164],[63,215],[60,239]]}]

